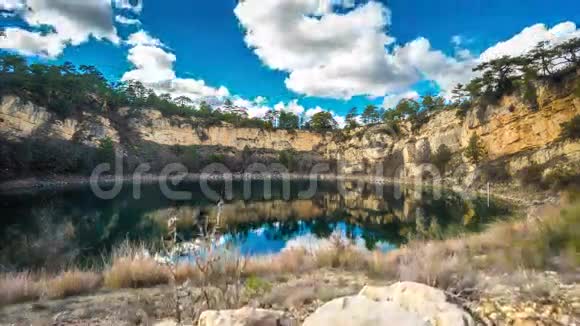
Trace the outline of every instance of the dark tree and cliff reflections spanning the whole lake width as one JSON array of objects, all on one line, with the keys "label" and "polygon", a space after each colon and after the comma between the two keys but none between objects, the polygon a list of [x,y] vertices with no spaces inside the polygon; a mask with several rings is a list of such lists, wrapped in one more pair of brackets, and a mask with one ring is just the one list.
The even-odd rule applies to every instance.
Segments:
[{"label": "dark tree and cliff reflections spanning the whole lake width", "polygon": [[[376,194],[376,186],[368,185],[345,187],[351,191],[339,194],[336,185],[324,183],[314,198],[298,198],[298,190],[307,186],[294,187],[289,201],[275,195],[270,201],[238,198],[226,203],[222,232],[243,241],[250,232],[263,228],[268,239],[288,240],[305,232],[328,238],[341,227],[345,236],[362,238],[372,249],[379,241],[400,245],[412,238],[478,231],[483,223],[507,212],[493,202],[487,207],[485,200],[464,202],[453,193],[433,198],[428,191],[409,188],[396,198],[390,186],[383,188],[382,195]],[[272,188],[280,192],[279,186]],[[235,193],[243,196],[242,191]],[[56,268],[74,259],[100,259],[125,240],[156,242],[166,234],[167,221],[173,216],[178,217],[178,231],[187,240],[198,236],[196,216],[201,210],[207,211],[209,223],[216,222],[215,204],[200,194],[191,202],[176,203],[154,186],[144,187],[142,199],[133,199],[131,189],[111,201],[96,199],[88,191],[73,191],[24,197],[5,207],[2,214],[9,217],[1,222],[0,264],[6,267]]]}]

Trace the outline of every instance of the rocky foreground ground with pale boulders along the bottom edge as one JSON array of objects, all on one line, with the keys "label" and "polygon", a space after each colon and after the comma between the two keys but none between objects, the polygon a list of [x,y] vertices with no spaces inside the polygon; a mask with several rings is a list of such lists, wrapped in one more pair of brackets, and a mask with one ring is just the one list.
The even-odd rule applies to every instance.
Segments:
[{"label": "rocky foreground ground with pale boulders along the bottom edge", "polygon": [[[265,285],[261,289],[254,289],[253,294],[240,302],[246,309],[239,313],[247,319],[262,313],[255,309],[266,309],[263,312],[266,316],[271,316],[270,311],[279,311],[289,325],[303,322],[304,325],[321,322],[334,326],[375,325],[367,322],[394,316],[403,318],[398,325],[423,325],[411,323],[417,320],[417,314],[423,320],[431,318],[432,323],[425,325],[580,325],[580,286],[563,284],[553,273],[544,273],[541,278],[527,285],[509,275],[490,277],[489,285],[473,295],[445,293],[416,283],[395,285],[397,290],[393,291],[393,287],[385,288],[388,282],[369,279],[360,273],[319,270],[308,275],[263,280]],[[366,285],[370,287],[356,295]],[[175,324],[172,322],[173,298],[170,287],[157,287],[12,305],[0,309],[0,325],[172,325]],[[191,307],[187,300],[183,301],[184,324],[191,325],[188,315]],[[399,306],[393,307],[394,303]],[[375,305],[380,309],[374,309]],[[453,322],[458,320],[453,316],[463,316],[463,313],[467,316],[466,323]],[[201,325],[233,325],[216,322],[235,316],[228,314],[208,314]],[[358,318],[357,322],[353,318]],[[241,325],[270,324],[255,321],[255,324]]]}]

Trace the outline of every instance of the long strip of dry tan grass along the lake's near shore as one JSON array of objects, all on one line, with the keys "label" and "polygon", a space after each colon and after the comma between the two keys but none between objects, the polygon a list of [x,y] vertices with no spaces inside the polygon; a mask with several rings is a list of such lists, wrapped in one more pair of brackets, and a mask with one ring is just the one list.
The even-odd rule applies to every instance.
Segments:
[{"label": "long strip of dry tan grass along the lake's near shore", "polygon": [[234,276],[246,284],[256,278],[300,275],[323,268],[365,273],[381,280],[417,281],[450,293],[471,293],[484,286],[483,275],[551,270],[565,278],[577,277],[578,234],[580,200],[571,198],[559,207],[536,209],[525,219],[494,223],[480,234],[443,241],[412,241],[388,253],[361,251],[336,239],[332,246],[313,252],[295,249],[265,257],[230,255],[215,257],[209,267],[191,263],[170,266],[146,254],[142,246],[125,244],[99,269],[70,268],[58,275],[1,275],[0,304],[186,282],[201,286]]}]

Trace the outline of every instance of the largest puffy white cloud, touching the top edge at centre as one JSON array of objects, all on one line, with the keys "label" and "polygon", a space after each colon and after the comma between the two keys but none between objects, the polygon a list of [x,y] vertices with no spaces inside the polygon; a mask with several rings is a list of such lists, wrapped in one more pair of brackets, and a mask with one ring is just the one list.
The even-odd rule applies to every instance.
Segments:
[{"label": "largest puffy white cloud, touching the top edge at centre", "polygon": [[349,99],[402,90],[419,76],[385,51],[390,11],[368,2],[321,16],[318,0],[246,0],[235,9],[246,44],[270,68],[287,71],[286,86],[310,96]]}]

